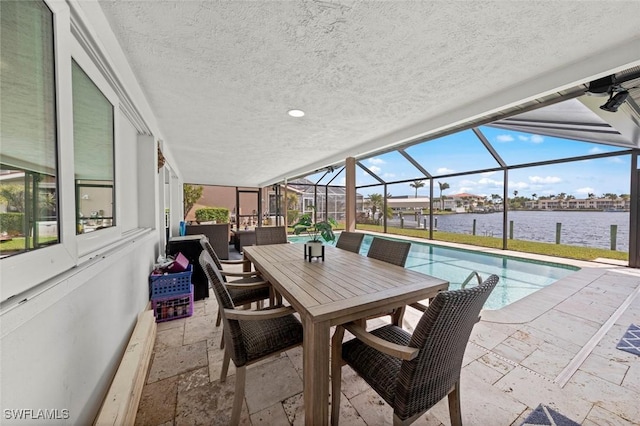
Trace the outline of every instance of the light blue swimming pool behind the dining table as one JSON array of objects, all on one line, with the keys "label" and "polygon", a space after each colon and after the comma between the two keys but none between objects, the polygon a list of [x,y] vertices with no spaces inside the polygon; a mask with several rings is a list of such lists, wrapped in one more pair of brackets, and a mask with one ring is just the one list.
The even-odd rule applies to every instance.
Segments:
[{"label": "light blue swimming pool behind the dining table", "polygon": [[[360,247],[361,255],[367,255],[372,239],[372,235],[365,234]],[[304,243],[307,240],[307,237],[302,236],[289,237],[292,243]],[[580,269],[560,263],[499,256],[415,241],[411,242],[405,267],[447,280],[451,290],[460,288],[473,271],[478,272],[482,279],[491,274],[498,275],[500,281],[485,303],[485,309],[500,309]],[[474,278],[470,284],[475,282]]]}]

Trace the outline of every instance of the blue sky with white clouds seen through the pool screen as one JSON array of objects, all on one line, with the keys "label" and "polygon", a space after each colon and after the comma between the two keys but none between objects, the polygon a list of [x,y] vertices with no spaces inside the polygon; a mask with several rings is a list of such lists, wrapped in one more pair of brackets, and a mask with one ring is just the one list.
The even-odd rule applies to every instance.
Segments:
[{"label": "blue sky with white clouds seen through the pool screen", "polygon": [[[613,146],[512,132],[486,126],[480,129],[509,165],[622,150]],[[498,166],[471,130],[414,145],[406,151],[434,176]],[[363,160],[362,163],[386,181],[415,179],[422,176],[420,171],[397,152],[372,157]],[[538,197],[557,195],[562,192],[574,195],[576,198],[586,198],[589,193],[596,196],[605,193],[628,194],[630,192],[629,170],[628,155],[510,170],[509,195],[512,196],[513,191],[518,191],[518,196],[526,197],[531,197],[532,194]],[[319,177],[319,175],[314,176],[316,176],[315,179]],[[445,195],[463,192],[485,196],[502,195],[503,177],[503,173],[498,171],[463,177],[437,178],[434,184],[434,196],[439,196],[438,181],[449,184],[450,188],[445,191]],[[330,178],[324,179],[323,182],[328,179]],[[333,183],[343,185],[344,176],[339,176]],[[371,183],[376,181],[358,167],[356,184]],[[359,192],[364,195],[381,193],[382,187],[363,188]],[[389,188],[389,192],[394,196],[415,195],[415,189],[410,187],[409,183],[393,185]],[[418,196],[428,195],[428,187],[418,190]]]}]

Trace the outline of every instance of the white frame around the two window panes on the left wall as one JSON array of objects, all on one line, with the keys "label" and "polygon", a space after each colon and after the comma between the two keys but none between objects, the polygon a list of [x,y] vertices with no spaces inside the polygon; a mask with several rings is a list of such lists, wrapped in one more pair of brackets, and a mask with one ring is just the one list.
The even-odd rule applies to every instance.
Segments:
[{"label": "white frame around the two window panes on the left wall", "polygon": [[[53,67],[55,90],[58,244],[20,253],[0,260],[0,302],[19,296],[28,299],[43,291],[47,282],[114,248],[122,240],[121,197],[123,182],[118,162],[120,100],[98,66],[72,35],[69,5],[41,0],[53,14]],[[94,82],[113,106],[114,207],[115,225],[88,234],[76,235],[76,191],[73,144],[72,60]]]}]

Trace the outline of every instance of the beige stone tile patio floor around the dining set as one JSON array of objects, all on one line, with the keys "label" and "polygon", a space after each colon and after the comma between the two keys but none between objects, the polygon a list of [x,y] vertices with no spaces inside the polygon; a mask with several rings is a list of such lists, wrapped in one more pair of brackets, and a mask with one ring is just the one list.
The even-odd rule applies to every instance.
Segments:
[{"label": "beige stone tile patio floor around the dining set", "polygon": [[[583,425],[640,424],[640,357],[616,349],[627,327],[640,325],[640,271],[579,266],[525,299],[483,312],[462,370],[465,425],[520,425],[541,403]],[[235,371],[231,363],[220,382],[217,309],[212,295],[195,302],[192,317],[158,324],[137,425],[228,424]],[[405,328],[418,318],[408,309]],[[349,367],[342,380],[340,424],[392,423],[391,408]],[[300,348],[249,367],[241,424],[304,424],[302,389]],[[414,424],[449,425],[446,399]]]}]

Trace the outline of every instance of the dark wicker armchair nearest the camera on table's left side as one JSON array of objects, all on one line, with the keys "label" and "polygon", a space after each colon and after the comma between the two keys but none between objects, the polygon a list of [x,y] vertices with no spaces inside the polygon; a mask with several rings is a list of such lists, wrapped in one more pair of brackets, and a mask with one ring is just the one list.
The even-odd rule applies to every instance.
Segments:
[{"label": "dark wicker armchair nearest the camera on table's left side", "polygon": [[235,395],[228,424],[237,425],[240,422],[244,400],[246,367],[301,345],[302,324],[293,315],[295,310],[292,307],[236,310],[220,271],[209,259],[206,252],[200,254],[200,265],[211,282],[224,321],[226,348],[220,382],[226,381],[229,361],[232,360],[236,366]]}]

